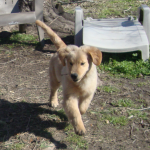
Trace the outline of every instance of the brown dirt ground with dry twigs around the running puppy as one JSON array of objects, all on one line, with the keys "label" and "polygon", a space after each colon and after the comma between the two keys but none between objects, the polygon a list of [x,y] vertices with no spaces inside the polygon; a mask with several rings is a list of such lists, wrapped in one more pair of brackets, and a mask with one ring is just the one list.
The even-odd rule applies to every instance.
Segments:
[{"label": "brown dirt ground with dry twigs around the running puppy", "polygon": [[[34,26],[28,27],[28,33],[31,31],[37,34]],[[67,44],[73,44],[72,35],[60,36]],[[150,149],[149,109],[140,110],[147,112],[147,119],[130,116],[131,119],[124,126],[101,119],[102,112],[110,113],[111,109],[119,109],[119,115],[127,116],[127,109],[113,105],[118,99],[129,98],[136,105],[148,108],[149,76],[130,80],[99,71],[98,76],[103,84],[83,115],[87,133],[83,137],[77,136],[77,142],[71,139],[74,131],[62,109],[61,88],[59,107],[53,109],[47,105],[50,93],[49,60],[55,50],[50,40],[46,40],[42,51],[28,43],[26,47],[9,49],[3,45],[0,48],[0,149]],[[106,86],[115,90],[103,90]]]}]

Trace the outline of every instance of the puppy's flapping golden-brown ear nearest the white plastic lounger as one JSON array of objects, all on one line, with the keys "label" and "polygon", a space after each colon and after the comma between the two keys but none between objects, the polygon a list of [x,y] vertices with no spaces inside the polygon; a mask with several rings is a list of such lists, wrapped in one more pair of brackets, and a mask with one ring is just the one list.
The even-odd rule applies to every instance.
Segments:
[{"label": "puppy's flapping golden-brown ear nearest the white plastic lounger", "polygon": [[81,48],[92,57],[93,63],[98,66],[102,62],[102,52],[93,46],[81,46]]}]

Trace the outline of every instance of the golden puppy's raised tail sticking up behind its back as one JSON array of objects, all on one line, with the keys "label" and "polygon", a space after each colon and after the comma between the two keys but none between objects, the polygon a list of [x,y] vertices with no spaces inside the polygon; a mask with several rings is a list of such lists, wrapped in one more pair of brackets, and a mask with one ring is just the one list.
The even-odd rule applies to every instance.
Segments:
[{"label": "golden puppy's raised tail sticking up behind its back", "polygon": [[36,24],[47,32],[51,41],[54,43],[54,45],[56,46],[57,49],[66,47],[66,44],[62,41],[62,39],[50,27],[48,27],[44,22],[42,22],[40,20],[36,20]]}]

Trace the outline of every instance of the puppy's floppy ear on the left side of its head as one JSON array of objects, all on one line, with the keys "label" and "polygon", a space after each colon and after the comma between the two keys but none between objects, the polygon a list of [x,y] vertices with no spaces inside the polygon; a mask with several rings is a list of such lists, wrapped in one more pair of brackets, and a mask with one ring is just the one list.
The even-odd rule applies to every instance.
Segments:
[{"label": "puppy's floppy ear on the left side of its head", "polygon": [[57,52],[58,52],[58,56],[59,56],[59,59],[60,59],[62,65],[65,66],[66,65],[65,58],[68,54],[67,47],[60,48],[57,50]]}]

